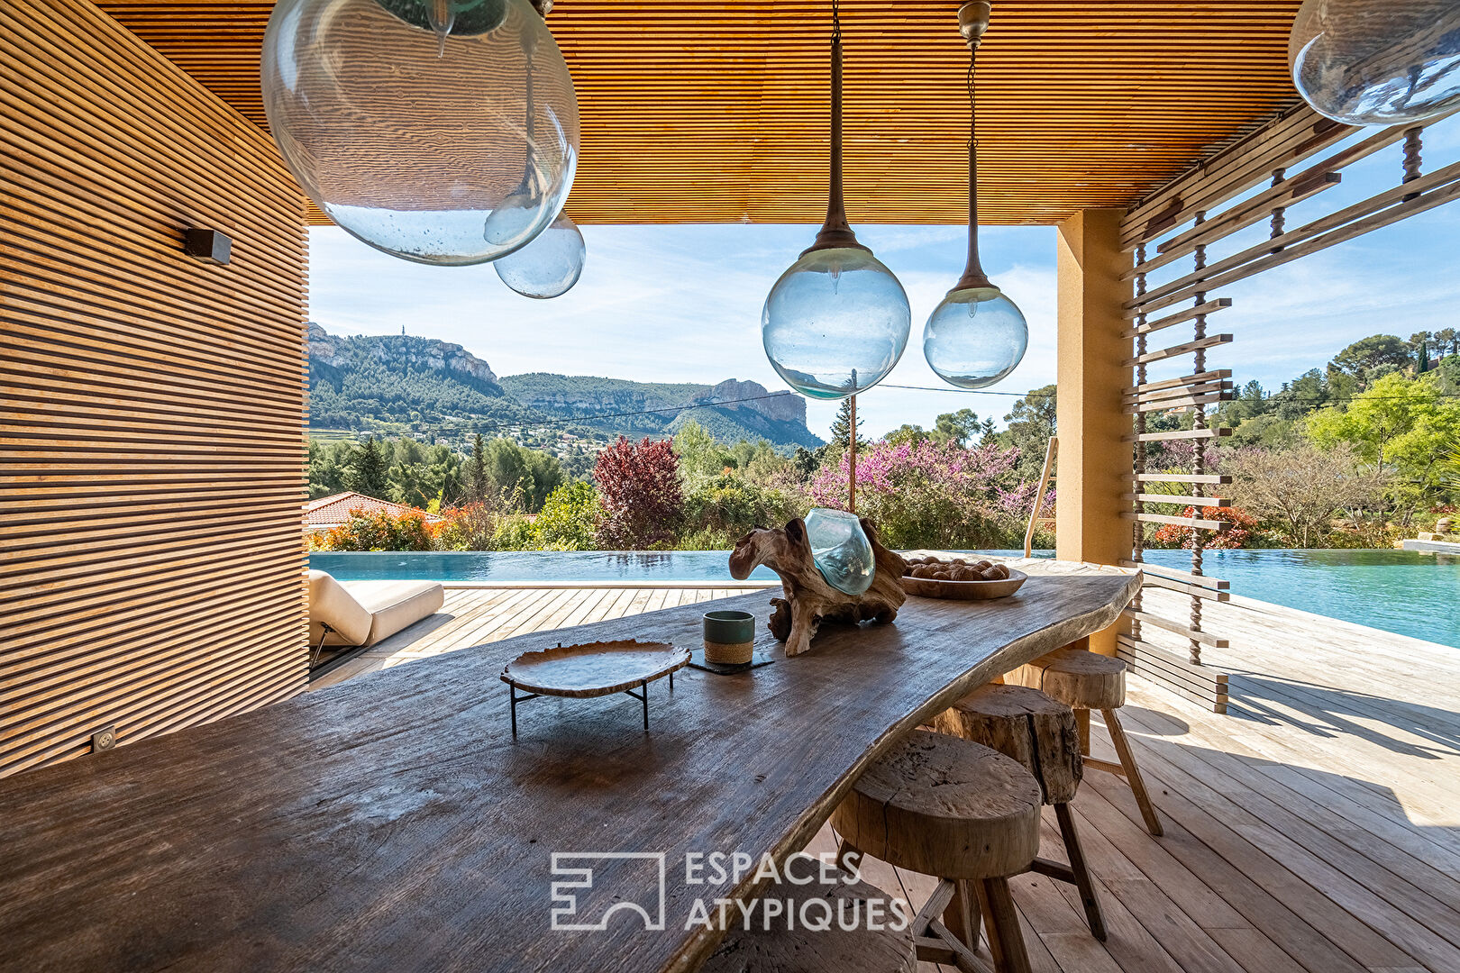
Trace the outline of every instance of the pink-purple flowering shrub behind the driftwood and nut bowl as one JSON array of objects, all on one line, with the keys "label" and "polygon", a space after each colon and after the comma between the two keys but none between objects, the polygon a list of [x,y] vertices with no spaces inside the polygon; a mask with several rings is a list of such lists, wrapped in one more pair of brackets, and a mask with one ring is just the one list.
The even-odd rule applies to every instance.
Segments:
[{"label": "pink-purple flowering shrub behind the driftwood and nut bowl", "polygon": [[[889,547],[1022,547],[1038,483],[1015,473],[1019,451],[988,443],[877,442],[857,455],[857,512]],[[848,458],[812,483],[819,506],[847,508]],[[1054,492],[1047,495],[1053,500]]]}]

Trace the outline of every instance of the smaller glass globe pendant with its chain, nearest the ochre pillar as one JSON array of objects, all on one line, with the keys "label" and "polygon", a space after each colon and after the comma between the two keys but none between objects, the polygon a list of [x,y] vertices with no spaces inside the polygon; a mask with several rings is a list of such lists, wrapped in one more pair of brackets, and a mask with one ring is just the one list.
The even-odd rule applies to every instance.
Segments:
[{"label": "smaller glass globe pendant with its chain, nearest the ochre pillar", "polygon": [[923,356],[949,385],[986,388],[1009,375],[1029,347],[1023,314],[978,261],[978,134],[974,102],[974,57],[988,29],[990,4],[965,3],[958,28],[968,41],[968,263],[964,276],[933,309],[923,328]]}]

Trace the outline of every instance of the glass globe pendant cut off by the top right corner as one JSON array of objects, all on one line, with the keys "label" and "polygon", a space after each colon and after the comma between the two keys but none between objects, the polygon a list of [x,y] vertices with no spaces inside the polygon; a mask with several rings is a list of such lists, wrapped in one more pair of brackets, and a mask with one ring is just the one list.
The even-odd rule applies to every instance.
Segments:
[{"label": "glass globe pendant cut off by the top right corner", "polygon": [[1288,41],[1292,83],[1350,125],[1425,121],[1460,105],[1460,3],[1305,0]]}]

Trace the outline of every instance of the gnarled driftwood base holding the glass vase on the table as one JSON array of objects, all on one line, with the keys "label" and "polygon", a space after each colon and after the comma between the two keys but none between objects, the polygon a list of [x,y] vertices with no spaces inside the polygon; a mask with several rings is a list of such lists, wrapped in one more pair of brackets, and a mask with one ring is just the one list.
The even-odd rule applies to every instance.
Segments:
[{"label": "gnarled driftwood base holding the glass vase on the table", "polygon": [[756,528],[736,541],[730,554],[730,575],[739,581],[750,576],[758,565],[765,565],[781,576],[784,598],[771,598],[771,635],[785,643],[787,655],[800,655],[812,648],[812,639],[822,621],[892,621],[907,601],[902,592],[902,572],[907,562],[877,541],[877,528],[863,518],[861,530],[872,541],[877,565],[872,586],[860,595],[848,595],[826,584],[812,560],[812,546],[806,537],[806,521],[791,521],[784,528]]}]

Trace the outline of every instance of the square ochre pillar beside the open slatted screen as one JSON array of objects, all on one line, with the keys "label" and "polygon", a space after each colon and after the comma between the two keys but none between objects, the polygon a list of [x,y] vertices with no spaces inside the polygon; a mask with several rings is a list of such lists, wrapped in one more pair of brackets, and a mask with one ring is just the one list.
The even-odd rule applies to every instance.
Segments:
[{"label": "square ochre pillar beside the open slatted screen", "polygon": [[[1130,525],[1121,495],[1132,470],[1130,416],[1121,389],[1132,357],[1121,303],[1132,296],[1120,276],[1132,267],[1120,248],[1124,210],[1083,210],[1058,233],[1060,490],[1054,506],[1056,556],[1117,565],[1130,557]],[[1091,648],[1115,654],[1115,626],[1091,636]]]}]

